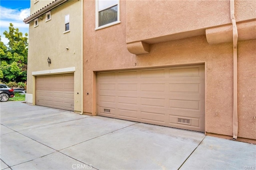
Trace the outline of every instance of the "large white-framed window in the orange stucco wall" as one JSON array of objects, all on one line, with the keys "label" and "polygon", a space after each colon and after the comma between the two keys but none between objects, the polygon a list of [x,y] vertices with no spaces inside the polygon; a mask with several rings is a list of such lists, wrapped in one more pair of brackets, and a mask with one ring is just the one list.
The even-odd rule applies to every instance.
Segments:
[{"label": "large white-framed window in the orange stucco wall", "polygon": [[96,29],[120,23],[119,0],[96,0]]}]

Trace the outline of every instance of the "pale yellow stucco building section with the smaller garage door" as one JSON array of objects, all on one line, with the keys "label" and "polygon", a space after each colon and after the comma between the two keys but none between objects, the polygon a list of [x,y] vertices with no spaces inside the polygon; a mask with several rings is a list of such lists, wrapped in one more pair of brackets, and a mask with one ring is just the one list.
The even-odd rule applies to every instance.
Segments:
[{"label": "pale yellow stucco building section with the smaller garage door", "polygon": [[27,103],[82,111],[82,2],[31,0]]}]

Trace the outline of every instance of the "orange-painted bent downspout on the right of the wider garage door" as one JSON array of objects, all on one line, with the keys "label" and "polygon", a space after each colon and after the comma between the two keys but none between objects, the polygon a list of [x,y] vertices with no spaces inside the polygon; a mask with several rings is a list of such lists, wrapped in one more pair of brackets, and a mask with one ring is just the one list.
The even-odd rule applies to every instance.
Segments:
[{"label": "orange-painted bent downspout on the right of the wider garage door", "polygon": [[233,25],[233,70],[234,70],[234,85],[233,85],[233,139],[237,138],[238,134],[238,114],[237,114],[237,41],[238,32],[235,19],[235,2],[230,0],[230,18]]}]

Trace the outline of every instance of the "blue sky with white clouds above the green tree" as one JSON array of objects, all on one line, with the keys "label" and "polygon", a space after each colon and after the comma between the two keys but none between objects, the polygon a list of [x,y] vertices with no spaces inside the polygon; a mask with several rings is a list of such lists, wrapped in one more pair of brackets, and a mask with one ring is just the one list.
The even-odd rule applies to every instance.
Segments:
[{"label": "blue sky with white clouds above the green tree", "polygon": [[9,30],[10,23],[14,28],[19,28],[23,36],[28,33],[29,25],[23,22],[28,16],[30,16],[30,0],[0,0],[0,33],[4,44],[7,44],[8,40],[3,32]]}]

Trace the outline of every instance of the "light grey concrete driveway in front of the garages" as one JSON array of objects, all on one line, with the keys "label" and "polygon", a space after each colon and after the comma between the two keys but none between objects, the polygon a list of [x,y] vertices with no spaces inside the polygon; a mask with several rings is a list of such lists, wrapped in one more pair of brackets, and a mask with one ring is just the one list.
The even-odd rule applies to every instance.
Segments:
[{"label": "light grey concrete driveway in front of the garages", "polygon": [[256,145],[1,102],[1,170],[255,169]]}]

